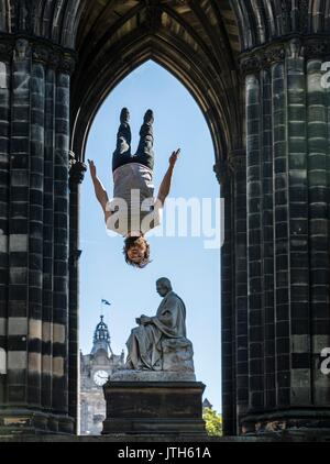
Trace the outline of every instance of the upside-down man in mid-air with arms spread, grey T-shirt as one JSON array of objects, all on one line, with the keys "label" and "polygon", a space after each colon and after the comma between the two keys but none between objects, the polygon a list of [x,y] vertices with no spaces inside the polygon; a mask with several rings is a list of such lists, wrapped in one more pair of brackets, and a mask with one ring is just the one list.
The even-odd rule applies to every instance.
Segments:
[{"label": "upside-down man in mid-air with arms spread, grey T-shirt", "polygon": [[113,200],[97,177],[95,163],[88,159],[96,197],[105,213],[107,228],[124,236],[123,253],[128,264],[145,267],[150,263],[150,245],[145,233],[161,223],[162,209],[169,194],[174,166],[179,150],[169,157],[169,167],[154,198],[153,168],[153,122],[152,110],[147,110],[140,130],[140,143],[134,155],[131,153],[130,113],[121,110],[117,147],[112,156]]}]

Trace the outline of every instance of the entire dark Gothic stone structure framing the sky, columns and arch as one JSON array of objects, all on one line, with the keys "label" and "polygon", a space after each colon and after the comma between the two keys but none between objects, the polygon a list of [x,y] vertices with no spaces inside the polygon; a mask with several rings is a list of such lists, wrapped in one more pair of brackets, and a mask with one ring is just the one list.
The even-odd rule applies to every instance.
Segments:
[{"label": "entire dark Gothic stone structure framing the sky, columns and arch", "polygon": [[329,433],[329,31],[320,0],[0,2],[0,432],[77,430],[88,131],[153,59],[213,141],[224,434]]}]

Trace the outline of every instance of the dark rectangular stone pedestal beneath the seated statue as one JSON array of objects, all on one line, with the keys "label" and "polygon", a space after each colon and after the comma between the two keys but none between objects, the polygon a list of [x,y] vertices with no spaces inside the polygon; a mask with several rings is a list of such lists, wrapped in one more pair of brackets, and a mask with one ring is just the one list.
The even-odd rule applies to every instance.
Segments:
[{"label": "dark rectangular stone pedestal beneath the seated statue", "polygon": [[108,382],[102,434],[175,433],[207,437],[198,382]]}]

